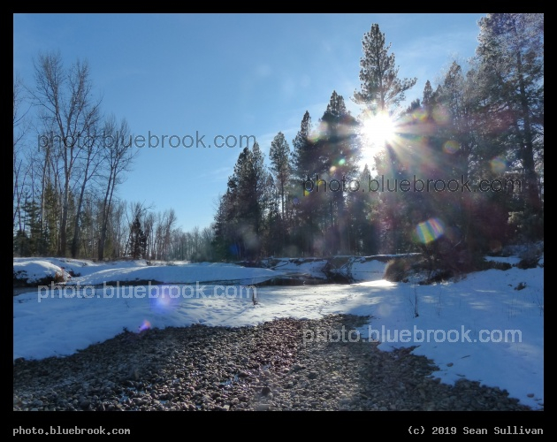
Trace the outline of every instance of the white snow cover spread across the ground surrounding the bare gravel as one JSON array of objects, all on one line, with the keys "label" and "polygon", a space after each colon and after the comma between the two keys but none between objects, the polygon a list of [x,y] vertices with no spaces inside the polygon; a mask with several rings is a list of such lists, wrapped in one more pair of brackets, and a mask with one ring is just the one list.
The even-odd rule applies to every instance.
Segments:
[{"label": "white snow cover spread across the ground surrounding the bare gravel", "polygon": [[[505,260],[519,261],[516,256]],[[370,320],[342,339],[378,339],[387,352],[415,347],[414,354],[439,367],[432,376],[441,382],[465,377],[506,389],[531,408],[543,408],[543,264],[479,271],[420,286],[386,281],[384,262],[355,260],[355,284],[251,286],[294,271],[284,263],[273,271],[224,263],[14,258],[14,274],[26,271],[29,280],[61,267],[75,276],[66,286],[31,287],[13,297],[13,359],[73,354],[124,329],[241,326],[346,313]],[[320,265],[308,261],[303,272],[315,271],[313,277],[322,278]],[[134,286],[138,280],[145,285]],[[106,284],[111,281],[118,284]],[[310,333],[305,337],[311,339]]]}]

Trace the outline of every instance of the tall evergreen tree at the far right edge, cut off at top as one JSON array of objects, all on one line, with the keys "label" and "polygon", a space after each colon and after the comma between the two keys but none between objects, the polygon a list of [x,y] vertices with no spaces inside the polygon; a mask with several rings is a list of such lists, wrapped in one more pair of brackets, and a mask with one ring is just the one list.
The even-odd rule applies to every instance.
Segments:
[{"label": "tall evergreen tree at the far right edge, cut off at top", "polygon": [[523,174],[523,216],[535,226],[530,238],[543,237],[537,166],[544,150],[544,14],[488,14],[479,27],[478,84],[492,118],[491,144],[514,156]]}]

